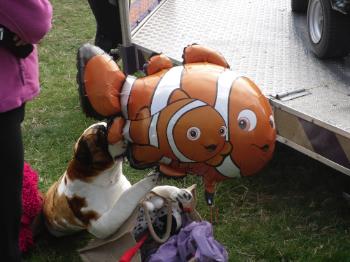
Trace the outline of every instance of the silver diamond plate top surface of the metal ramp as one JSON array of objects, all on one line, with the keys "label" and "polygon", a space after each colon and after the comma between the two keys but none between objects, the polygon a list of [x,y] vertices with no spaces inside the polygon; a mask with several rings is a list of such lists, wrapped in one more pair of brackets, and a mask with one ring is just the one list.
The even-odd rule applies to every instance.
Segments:
[{"label": "silver diamond plate top surface of the metal ramp", "polygon": [[350,57],[314,57],[305,15],[293,14],[290,0],[167,0],[136,31],[133,42],[177,61],[188,44],[210,46],[266,95],[310,91],[281,104],[350,137]]}]

